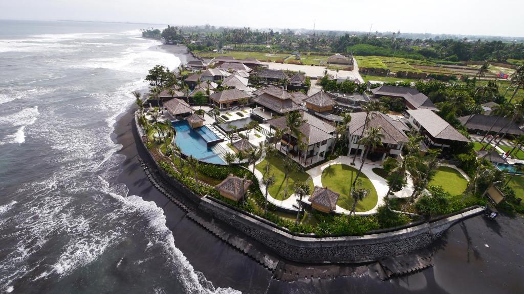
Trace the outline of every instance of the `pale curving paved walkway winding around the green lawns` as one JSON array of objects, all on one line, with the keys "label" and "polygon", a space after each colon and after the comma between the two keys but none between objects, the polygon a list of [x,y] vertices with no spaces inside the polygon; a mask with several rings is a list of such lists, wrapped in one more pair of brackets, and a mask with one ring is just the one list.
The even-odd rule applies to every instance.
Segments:
[{"label": "pale curving paved walkway winding around the green lawns", "polygon": [[[256,164],[260,163],[261,161],[262,161],[262,159],[257,161]],[[353,161],[352,157],[339,156],[335,160],[332,160],[332,161],[326,162],[323,165],[311,168],[309,171],[307,171],[307,173],[309,175],[311,175],[311,178],[313,180],[313,185],[314,186],[323,187],[321,178],[322,178],[322,172],[324,171],[325,168],[327,168],[328,166],[333,165],[333,164],[345,164],[345,165],[351,166],[350,163],[352,161]],[[356,159],[354,167],[356,167],[358,169],[360,164],[361,164],[361,161],[359,159]],[[375,168],[375,167],[381,168],[382,166],[378,165],[378,164],[364,163],[364,166],[362,167],[362,173],[369,178],[369,180],[372,182],[373,186],[377,190],[377,197],[378,197],[377,204],[371,210],[368,210],[368,211],[365,211],[365,212],[355,212],[355,214],[366,215],[366,214],[376,213],[377,212],[377,208],[380,205],[383,205],[383,203],[384,203],[384,197],[386,196],[386,193],[389,190],[389,187],[388,187],[388,185],[386,183],[386,180],[383,177],[380,177],[379,175],[375,174],[372,171],[372,169]],[[249,165],[249,169],[251,171],[253,171],[253,165]],[[266,186],[262,183],[263,174],[261,172],[259,172],[256,168],[255,168],[255,177],[258,179],[258,183],[259,183],[259,186],[260,186],[260,190],[262,191],[262,194],[266,195]],[[395,198],[409,197],[411,195],[412,191],[413,191],[412,187],[413,187],[413,183],[412,183],[411,179],[408,177],[408,185],[407,185],[407,187],[405,187],[402,190],[398,191],[397,193],[395,193],[394,196],[391,196],[391,197],[395,197]],[[302,200],[307,202],[307,197],[302,198]],[[297,201],[298,201],[298,198],[294,194],[292,194],[286,200],[277,200],[277,199],[273,198],[270,194],[268,194],[268,201],[271,202],[272,204],[274,204],[276,206],[279,206],[279,207],[282,207],[282,208],[286,208],[286,209],[290,209],[290,210],[294,210],[294,211],[298,210],[296,207],[293,207],[293,205],[297,206]],[[350,211],[347,210],[347,209],[344,209],[344,208],[342,208],[340,206],[337,206],[336,210],[335,210],[335,213],[349,214]]]}]

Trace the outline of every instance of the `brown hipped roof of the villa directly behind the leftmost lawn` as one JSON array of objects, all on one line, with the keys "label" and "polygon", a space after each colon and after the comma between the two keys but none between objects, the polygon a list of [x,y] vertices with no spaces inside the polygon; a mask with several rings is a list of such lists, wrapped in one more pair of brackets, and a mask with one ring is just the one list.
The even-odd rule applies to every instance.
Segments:
[{"label": "brown hipped roof of the villa directly behind the leftmost lawn", "polygon": [[[333,133],[336,128],[333,127],[329,122],[325,122],[304,111],[300,111],[300,115],[302,116],[303,120],[306,120],[299,128],[300,133],[302,133],[302,142],[309,142],[309,145],[311,145],[334,138],[331,133]],[[269,123],[269,125],[272,127],[279,128],[281,130],[287,127],[286,116],[270,119],[267,121],[267,123]]]}]

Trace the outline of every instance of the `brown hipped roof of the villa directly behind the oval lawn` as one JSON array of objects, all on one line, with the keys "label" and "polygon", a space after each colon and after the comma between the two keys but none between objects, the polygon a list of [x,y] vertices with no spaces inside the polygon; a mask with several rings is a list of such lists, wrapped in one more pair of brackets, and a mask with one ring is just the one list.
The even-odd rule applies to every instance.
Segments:
[{"label": "brown hipped roof of the villa directly behind the oval lawn", "polygon": [[[362,134],[362,128],[364,127],[366,112],[354,112],[350,115],[351,122],[348,123],[350,128],[349,134],[360,136]],[[380,133],[384,134],[382,143],[400,144],[409,141],[408,136],[404,133],[404,131],[409,130],[409,128],[402,121],[394,120],[381,112],[373,111],[369,114],[366,130],[370,127],[381,127]]]}]

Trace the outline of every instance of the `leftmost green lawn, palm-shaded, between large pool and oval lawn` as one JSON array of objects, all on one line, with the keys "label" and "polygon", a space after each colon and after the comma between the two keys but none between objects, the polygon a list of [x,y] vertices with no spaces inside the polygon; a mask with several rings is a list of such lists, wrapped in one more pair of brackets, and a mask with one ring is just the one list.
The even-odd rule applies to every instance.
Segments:
[{"label": "leftmost green lawn, palm-shaded, between large pool and oval lawn", "polygon": [[[293,185],[296,180],[306,181],[309,178],[309,174],[294,169],[293,172],[289,174],[289,180],[288,180],[288,195],[285,196],[285,188],[286,188],[286,180],[284,179],[284,168],[283,168],[283,157],[281,155],[274,155],[269,158],[269,164],[270,164],[270,174],[275,175],[275,184],[273,184],[271,187],[269,187],[269,194],[278,200],[285,200],[289,198],[291,194],[293,194]],[[261,161],[259,164],[256,165],[256,169],[260,171],[261,173],[266,172],[266,165],[267,165],[267,158]],[[297,164],[298,166],[298,164]],[[313,191],[313,182],[310,183],[311,191]]]}]

